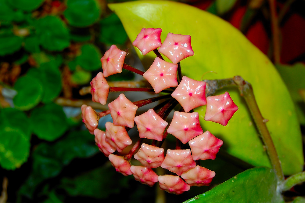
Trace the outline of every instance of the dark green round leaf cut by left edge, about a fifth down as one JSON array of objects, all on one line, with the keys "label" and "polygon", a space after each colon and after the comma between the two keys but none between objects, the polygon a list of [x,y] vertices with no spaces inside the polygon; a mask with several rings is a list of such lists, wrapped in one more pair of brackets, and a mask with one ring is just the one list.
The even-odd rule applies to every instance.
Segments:
[{"label": "dark green round leaf cut by left edge, about a fifth down", "polygon": [[0,56],[18,51],[22,45],[22,38],[10,32],[0,31]]}]

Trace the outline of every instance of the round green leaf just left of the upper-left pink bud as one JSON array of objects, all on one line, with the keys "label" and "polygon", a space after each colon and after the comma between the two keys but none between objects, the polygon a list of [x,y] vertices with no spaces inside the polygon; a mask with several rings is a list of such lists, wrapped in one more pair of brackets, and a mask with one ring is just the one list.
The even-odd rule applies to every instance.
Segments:
[{"label": "round green leaf just left of the upper-left pink bud", "polygon": [[81,47],[81,55],[77,56],[77,64],[84,70],[95,71],[102,67],[102,54],[93,44],[85,44]]}]

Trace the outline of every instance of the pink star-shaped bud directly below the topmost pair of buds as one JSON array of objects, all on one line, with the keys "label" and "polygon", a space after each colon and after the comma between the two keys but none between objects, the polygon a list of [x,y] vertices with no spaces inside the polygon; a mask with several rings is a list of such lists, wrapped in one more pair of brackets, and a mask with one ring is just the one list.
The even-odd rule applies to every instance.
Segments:
[{"label": "pink star-shaped bud directly below the topmost pair of buds", "polygon": [[156,57],[143,77],[152,85],[156,93],[169,87],[176,87],[178,65],[166,62]]}]

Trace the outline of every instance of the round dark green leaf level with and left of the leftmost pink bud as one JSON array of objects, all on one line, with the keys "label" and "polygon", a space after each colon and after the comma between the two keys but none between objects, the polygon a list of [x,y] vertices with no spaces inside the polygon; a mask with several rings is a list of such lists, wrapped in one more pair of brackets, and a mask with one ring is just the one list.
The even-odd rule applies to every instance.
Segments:
[{"label": "round dark green leaf level with and left of the leftmost pink bud", "polygon": [[34,108],[30,119],[34,127],[34,133],[43,140],[56,140],[68,128],[63,108],[55,103]]}]

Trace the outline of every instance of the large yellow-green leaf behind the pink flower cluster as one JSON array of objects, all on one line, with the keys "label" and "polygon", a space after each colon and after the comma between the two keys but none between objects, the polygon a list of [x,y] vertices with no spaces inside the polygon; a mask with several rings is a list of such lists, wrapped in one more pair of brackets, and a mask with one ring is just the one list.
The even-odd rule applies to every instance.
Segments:
[{"label": "large yellow-green leaf behind the pink flower cluster", "polygon": [[[241,75],[253,85],[254,94],[271,132],[285,174],[302,171],[304,163],[300,125],[292,100],[270,60],[228,22],[203,10],[177,2],[136,1],[110,4],[121,19],[131,41],[143,27],[162,28],[161,40],[168,32],[190,34],[195,55],[181,61],[182,74],[195,80],[231,78]],[[145,57],[137,49],[145,68],[156,57]],[[215,73],[207,73],[215,71]],[[205,74],[207,73],[207,74]],[[229,91],[239,107],[229,124],[204,121],[205,106],[199,107],[203,129],[224,140],[227,152],[255,166],[270,166],[247,106],[237,89]]]}]

